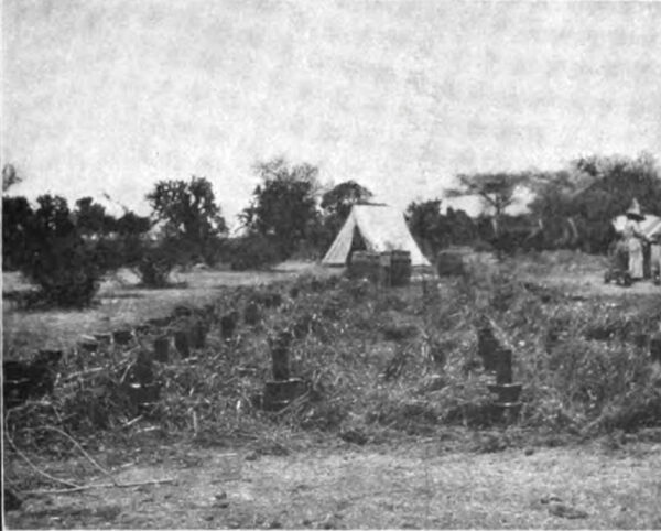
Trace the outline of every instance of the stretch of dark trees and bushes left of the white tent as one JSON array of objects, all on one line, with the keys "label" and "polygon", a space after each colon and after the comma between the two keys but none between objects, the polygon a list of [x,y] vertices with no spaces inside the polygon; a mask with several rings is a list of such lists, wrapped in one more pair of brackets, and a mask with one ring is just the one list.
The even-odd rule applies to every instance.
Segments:
[{"label": "stretch of dark trees and bushes left of the white tent", "polygon": [[91,197],[69,207],[45,194],[32,205],[7,192],[20,177],[3,169],[3,270],[18,270],[39,286],[30,303],[89,304],[101,278],[130,268],[144,285],[169,282],[177,266],[228,263],[258,269],[302,253],[315,256],[330,243],[350,206],[371,193],[354,181],[323,191],[318,170],[274,159],[254,167],[260,183],[240,213],[243,234],[229,237],[212,183],[206,177],[159,181],[147,194],[149,216],[124,208],[110,215]]}]

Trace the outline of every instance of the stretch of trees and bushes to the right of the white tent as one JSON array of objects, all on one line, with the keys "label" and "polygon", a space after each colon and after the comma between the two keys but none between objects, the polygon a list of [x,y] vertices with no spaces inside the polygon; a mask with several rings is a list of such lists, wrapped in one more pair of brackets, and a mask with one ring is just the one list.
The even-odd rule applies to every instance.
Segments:
[{"label": "stretch of trees and bushes to the right of the white tent", "polygon": [[[517,198],[532,197],[511,214]],[[418,242],[434,254],[449,245],[499,253],[579,249],[605,253],[615,238],[613,219],[637,198],[643,213],[661,216],[661,171],[653,156],[585,156],[554,172],[496,172],[458,175],[446,197],[474,195],[483,212],[472,218],[441,199],[412,203],[409,225]]]}]

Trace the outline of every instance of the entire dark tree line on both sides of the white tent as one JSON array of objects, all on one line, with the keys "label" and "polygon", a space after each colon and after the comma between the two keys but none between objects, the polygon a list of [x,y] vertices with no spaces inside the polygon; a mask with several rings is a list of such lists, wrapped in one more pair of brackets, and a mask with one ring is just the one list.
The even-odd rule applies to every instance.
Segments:
[{"label": "entire dark tree line on both sides of the white tent", "polygon": [[[3,169],[2,259],[40,286],[40,300],[59,305],[88,304],[105,273],[122,267],[145,285],[162,286],[176,266],[229,263],[256,269],[292,256],[318,258],[337,235],[351,206],[369,203],[372,192],[355,181],[323,187],[314,165],[273,159],[254,166],[259,184],[239,214],[243,232],[229,237],[212,183],[205,177],[159,181],[147,195],[149,216],[128,209],[115,217],[91,197],[69,208],[65,198],[42,195],[31,205],[7,191],[20,182]],[[522,191],[528,210],[510,209]],[[442,214],[443,198],[412,202],[405,212],[413,237],[434,257],[448,246],[497,252],[576,248],[605,252],[610,220],[633,197],[643,210],[661,215],[661,173],[641,154],[588,156],[555,172],[476,173],[457,176],[446,198],[474,195],[483,212]]]}]

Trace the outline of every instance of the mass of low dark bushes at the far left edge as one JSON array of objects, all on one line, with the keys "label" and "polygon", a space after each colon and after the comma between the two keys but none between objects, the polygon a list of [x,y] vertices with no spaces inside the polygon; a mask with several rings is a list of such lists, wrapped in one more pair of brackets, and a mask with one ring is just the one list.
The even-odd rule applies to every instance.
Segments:
[{"label": "mass of low dark bushes at the far left edge", "polygon": [[134,266],[145,250],[149,218],[119,219],[90,197],[69,210],[66,199],[43,195],[33,209],[25,197],[2,198],[4,270],[19,270],[40,288],[39,301],[61,306],[89,304],[106,271]]}]

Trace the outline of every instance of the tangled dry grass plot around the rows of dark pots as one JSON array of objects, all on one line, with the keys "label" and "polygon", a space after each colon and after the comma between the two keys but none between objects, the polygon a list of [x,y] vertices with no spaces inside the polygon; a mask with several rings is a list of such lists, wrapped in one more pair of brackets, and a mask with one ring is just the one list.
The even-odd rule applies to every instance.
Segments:
[{"label": "tangled dry grass plot around the rows of dark pots", "polygon": [[[197,290],[216,299],[212,313],[204,316],[210,326],[207,345],[191,359],[156,364],[162,394],[144,421],[175,436],[193,433],[198,441],[240,440],[238,434],[246,431],[259,440],[272,429],[272,421],[293,433],[322,430],[364,442],[382,440],[383,430],[422,435],[438,433],[448,423],[489,426],[495,420],[488,376],[479,364],[476,367],[475,354],[476,319],[487,315],[514,351],[514,378],[524,388],[522,426],[594,436],[659,422],[660,376],[649,370],[644,337],[658,326],[661,301],[648,297],[644,305],[603,297],[576,301],[562,290],[521,282],[509,264],[490,272],[477,266],[479,274],[444,280],[431,299],[421,284],[387,290],[312,275],[294,283],[226,286],[213,293],[209,285],[218,273],[198,272],[192,277],[196,284],[183,291],[198,306],[206,299],[192,300]],[[160,290],[152,293],[165,299],[147,297],[139,312],[149,304],[162,311],[167,307],[164,300],[170,307],[180,302]],[[270,305],[273,294],[282,304]],[[231,311],[242,315],[254,300],[262,301],[261,322],[250,325],[241,319],[237,336],[224,342],[220,317]],[[158,314],[154,310],[141,315]],[[66,314],[54,316],[71,326]],[[78,322],[75,333],[80,328]],[[254,405],[270,378],[269,345],[286,330],[295,337],[292,372],[310,382],[311,392],[273,419]],[[164,332],[141,333],[142,349],[149,350],[153,337]],[[35,340],[35,334],[23,337]],[[130,421],[127,415],[138,414],[131,408],[124,411],[124,400],[116,391],[139,350],[140,345],[112,346],[95,355],[65,357],[55,410],[69,429],[89,436],[99,427],[122,426]],[[93,376],[67,379],[80,371]],[[237,422],[239,405],[242,416]],[[36,412],[26,411],[15,426],[30,425]],[[291,443],[291,437],[285,440]],[[519,443],[501,437],[485,446],[512,444]]]}]

